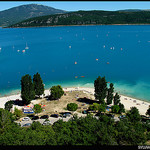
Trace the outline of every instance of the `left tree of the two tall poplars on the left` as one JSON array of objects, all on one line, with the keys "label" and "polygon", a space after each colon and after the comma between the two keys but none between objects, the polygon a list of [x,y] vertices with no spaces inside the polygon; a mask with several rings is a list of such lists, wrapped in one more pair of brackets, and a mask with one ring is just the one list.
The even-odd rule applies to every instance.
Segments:
[{"label": "left tree of the two tall poplars on the left", "polygon": [[31,100],[35,98],[34,86],[29,74],[21,78],[21,98],[26,105],[30,104]]}]

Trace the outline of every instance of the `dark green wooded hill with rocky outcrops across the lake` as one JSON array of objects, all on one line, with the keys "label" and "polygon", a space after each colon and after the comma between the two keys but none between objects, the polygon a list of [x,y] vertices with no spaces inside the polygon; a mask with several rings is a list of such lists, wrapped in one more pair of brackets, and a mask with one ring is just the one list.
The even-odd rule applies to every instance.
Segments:
[{"label": "dark green wooded hill with rocky outcrops across the lake", "polygon": [[30,18],[10,27],[90,24],[150,24],[150,11],[77,11]]}]

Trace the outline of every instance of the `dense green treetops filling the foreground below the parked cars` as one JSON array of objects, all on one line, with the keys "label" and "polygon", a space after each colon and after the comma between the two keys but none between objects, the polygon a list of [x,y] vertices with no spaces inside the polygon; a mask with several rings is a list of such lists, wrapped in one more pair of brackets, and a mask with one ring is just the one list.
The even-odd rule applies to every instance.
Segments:
[{"label": "dense green treetops filling the foreground below the parked cars", "polygon": [[74,116],[52,126],[36,121],[25,128],[12,121],[10,112],[0,109],[0,127],[0,145],[145,145],[150,139],[149,124],[130,120],[115,123],[106,115],[99,119]]}]

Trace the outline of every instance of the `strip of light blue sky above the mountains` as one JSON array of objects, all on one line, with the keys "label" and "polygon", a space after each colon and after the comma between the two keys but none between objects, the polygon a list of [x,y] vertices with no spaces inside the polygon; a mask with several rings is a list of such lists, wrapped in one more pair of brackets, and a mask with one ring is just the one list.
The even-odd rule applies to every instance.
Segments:
[{"label": "strip of light blue sky above the mountains", "polygon": [[0,11],[26,4],[42,4],[66,11],[150,9],[149,1],[0,1]]}]

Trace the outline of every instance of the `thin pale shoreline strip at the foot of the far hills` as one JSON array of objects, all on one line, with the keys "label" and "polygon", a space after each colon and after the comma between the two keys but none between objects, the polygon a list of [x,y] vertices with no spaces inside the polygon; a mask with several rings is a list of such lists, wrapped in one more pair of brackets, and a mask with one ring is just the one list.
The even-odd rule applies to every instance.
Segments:
[{"label": "thin pale shoreline strip at the foot of the far hills", "polygon": [[48,26],[28,26],[28,27],[3,27],[1,28],[40,28],[40,27],[66,27],[66,26],[108,26],[108,25],[150,25],[150,24],[82,24],[82,25],[48,25]]}]

